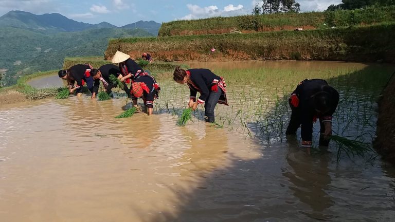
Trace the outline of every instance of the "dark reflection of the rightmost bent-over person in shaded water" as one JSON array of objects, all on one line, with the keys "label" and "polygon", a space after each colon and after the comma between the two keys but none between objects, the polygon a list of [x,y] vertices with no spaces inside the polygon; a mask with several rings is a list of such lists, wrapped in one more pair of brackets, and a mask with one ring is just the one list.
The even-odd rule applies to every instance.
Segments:
[{"label": "dark reflection of the rightmost bent-over person in shaded water", "polygon": [[[300,155],[299,155],[300,154]],[[307,163],[301,159],[306,156],[300,152],[288,154],[286,161],[292,167],[292,171],[283,172],[293,184],[289,188],[294,192],[294,196],[301,202],[309,205],[313,211],[322,212],[333,205],[333,201],[326,193],[331,183],[328,172],[330,157],[322,156],[318,164]]]}]

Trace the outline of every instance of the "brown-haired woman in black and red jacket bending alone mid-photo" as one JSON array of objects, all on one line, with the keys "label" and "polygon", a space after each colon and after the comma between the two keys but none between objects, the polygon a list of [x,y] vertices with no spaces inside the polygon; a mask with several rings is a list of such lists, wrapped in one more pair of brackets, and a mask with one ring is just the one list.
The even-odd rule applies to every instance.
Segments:
[{"label": "brown-haired woman in black and red jacket bending alone mid-photo", "polygon": [[[192,110],[197,108],[197,105],[204,104],[205,113],[207,117],[206,122],[214,122],[214,108],[217,103],[228,105],[226,100],[226,84],[222,77],[212,73],[209,69],[180,69],[179,66],[175,68],[173,79],[177,83],[187,84],[190,89],[190,97],[188,107]],[[199,91],[200,97],[196,101],[196,94]]]}]

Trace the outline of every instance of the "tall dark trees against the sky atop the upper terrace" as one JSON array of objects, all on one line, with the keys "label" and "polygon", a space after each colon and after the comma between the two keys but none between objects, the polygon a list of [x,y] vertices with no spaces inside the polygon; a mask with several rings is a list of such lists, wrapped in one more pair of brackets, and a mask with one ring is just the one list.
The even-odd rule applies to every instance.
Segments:
[{"label": "tall dark trees against the sky atop the upper terrace", "polygon": [[262,0],[262,7],[255,5],[253,14],[271,14],[279,12],[299,12],[300,4],[295,0]]}]

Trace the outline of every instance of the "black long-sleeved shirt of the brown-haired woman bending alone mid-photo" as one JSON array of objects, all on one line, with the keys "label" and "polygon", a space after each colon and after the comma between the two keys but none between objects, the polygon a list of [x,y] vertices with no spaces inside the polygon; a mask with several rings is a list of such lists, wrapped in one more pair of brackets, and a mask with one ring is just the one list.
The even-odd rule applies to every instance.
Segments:
[{"label": "black long-sleeved shirt of the brown-haired woman bending alone mid-photo", "polygon": [[199,91],[200,97],[197,102],[203,104],[210,95],[211,86],[214,85],[213,81],[220,81],[221,78],[212,73],[210,69],[188,69],[188,72],[190,73],[189,79],[192,82],[188,83],[190,98],[196,99],[196,93]]}]

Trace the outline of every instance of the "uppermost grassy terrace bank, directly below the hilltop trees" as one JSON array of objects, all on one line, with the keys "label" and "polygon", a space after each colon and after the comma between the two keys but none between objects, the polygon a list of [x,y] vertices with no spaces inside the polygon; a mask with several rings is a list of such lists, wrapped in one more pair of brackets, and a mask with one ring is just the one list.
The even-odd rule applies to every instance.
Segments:
[{"label": "uppermost grassy terrace bank, directly below the hilltop trees", "polygon": [[159,36],[221,34],[229,33],[232,29],[243,32],[293,30],[298,27],[316,29],[392,21],[395,21],[395,6],[325,12],[212,17],[164,23],[159,29]]}]

